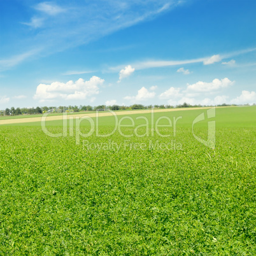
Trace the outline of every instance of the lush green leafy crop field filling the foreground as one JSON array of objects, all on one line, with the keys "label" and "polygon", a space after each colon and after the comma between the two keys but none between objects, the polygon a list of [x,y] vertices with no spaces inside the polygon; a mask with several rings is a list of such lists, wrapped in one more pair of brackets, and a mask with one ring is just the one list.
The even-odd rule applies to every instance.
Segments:
[{"label": "lush green leafy crop field filling the foreground", "polygon": [[[0,254],[255,255],[256,107],[217,108],[214,149],[192,134],[201,113],[155,113],[154,123],[182,117],[159,134],[151,114],[130,115],[140,137],[1,125]],[[114,121],[99,118],[99,134]],[[204,140],[208,121],[194,125]],[[46,128],[66,132],[60,121]]]}]

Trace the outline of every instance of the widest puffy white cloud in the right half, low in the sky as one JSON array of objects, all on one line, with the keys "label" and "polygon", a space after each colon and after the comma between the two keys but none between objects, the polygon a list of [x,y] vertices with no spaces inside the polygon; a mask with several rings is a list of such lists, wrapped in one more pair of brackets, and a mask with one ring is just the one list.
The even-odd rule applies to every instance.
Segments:
[{"label": "widest puffy white cloud in the right half, low in the sky", "polygon": [[217,78],[213,80],[211,83],[207,82],[197,82],[192,85],[187,84],[187,92],[212,92],[219,89],[222,89],[224,87],[228,87],[234,83],[231,82],[228,78],[224,78],[222,80],[218,80]]}]

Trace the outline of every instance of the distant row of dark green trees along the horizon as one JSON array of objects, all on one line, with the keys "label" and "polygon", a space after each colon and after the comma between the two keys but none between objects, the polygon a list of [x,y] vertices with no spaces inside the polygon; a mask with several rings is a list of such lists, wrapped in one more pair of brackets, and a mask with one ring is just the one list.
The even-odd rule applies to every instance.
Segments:
[{"label": "distant row of dark green trees along the horizon", "polygon": [[[229,104],[220,104],[217,106],[231,106]],[[232,105],[236,106],[236,105]],[[145,109],[151,109],[151,108],[196,108],[196,107],[202,107],[200,104],[199,105],[190,105],[187,103],[180,104],[178,106],[171,106],[171,105],[148,105],[145,106],[143,104],[133,104],[131,106],[119,106],[117,104],[113,106],[105,106],[105,105],[99,105],[99,106],[43,106],[39,107],[37,106],[36,108],[6,108],[5,110],[0,110],[0,115],[36,115],[36,114],[42,114],[42,113],[73,113],[73,112],[80,112],[80,111],[104,111],[104,110],[145,110]]]}]

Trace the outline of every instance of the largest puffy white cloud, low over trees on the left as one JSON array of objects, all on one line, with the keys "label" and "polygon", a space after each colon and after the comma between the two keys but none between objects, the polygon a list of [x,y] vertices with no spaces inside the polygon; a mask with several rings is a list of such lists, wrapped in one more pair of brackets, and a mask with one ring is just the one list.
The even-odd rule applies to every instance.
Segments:
[{"label": "largest puffy white cloud, low over trees on the left", "polygon": [[94,94],[99,94],[99,85],[102,85],[103,79],[92,76],[89,81],[82,78],[75,83],[69,81],[67,83],[53,82],[50,85],[40,83],[36,89],[34,99],[40,101],[52,99],[86,99]]}]

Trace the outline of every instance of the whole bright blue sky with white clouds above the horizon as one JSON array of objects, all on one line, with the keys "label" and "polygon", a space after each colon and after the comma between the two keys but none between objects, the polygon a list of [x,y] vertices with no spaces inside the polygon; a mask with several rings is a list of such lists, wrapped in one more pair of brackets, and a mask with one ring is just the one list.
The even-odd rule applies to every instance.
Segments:
[{"label": "whole bright blue sky with white clouds above the horizon", "polygon": [[0,109],[256,103],[255,0],[0,1]]}]

